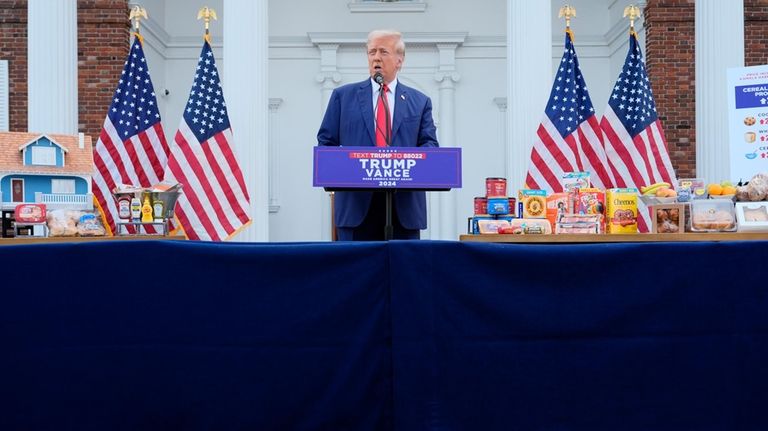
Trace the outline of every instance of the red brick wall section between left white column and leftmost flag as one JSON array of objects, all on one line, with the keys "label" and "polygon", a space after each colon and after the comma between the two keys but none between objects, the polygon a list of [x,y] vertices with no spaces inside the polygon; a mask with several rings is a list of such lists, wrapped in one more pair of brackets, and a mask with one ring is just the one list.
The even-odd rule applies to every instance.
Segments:
[{"label": "red brick wall section between left white column and leftmost flag", "polygon": [[95,143],[128,55],[128,0],[78,0],[78,129]]}]

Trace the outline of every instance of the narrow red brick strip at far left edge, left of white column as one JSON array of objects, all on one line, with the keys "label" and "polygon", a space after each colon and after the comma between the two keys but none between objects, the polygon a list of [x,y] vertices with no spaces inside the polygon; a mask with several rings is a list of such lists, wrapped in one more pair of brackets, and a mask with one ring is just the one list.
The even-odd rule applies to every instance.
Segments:
[{"label": "narrow red brick strip at far left edge, left of white column", "polygon": [[8,60],[8,124],[27,131],[27,2],[0,0],[0,59]]}]

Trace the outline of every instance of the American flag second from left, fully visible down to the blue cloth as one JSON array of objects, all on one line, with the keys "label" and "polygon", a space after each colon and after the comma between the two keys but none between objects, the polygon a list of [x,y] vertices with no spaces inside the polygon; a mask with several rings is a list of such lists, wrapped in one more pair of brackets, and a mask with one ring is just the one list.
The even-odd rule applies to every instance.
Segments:
[{"label": "American flag second from left, fully visible down to the blue cloth", "polygon": [[226,240],[251,222],[248,189],[232,142],[219,72],[206,39],[166,175],[183,186],[176,217],[189,239]]}]

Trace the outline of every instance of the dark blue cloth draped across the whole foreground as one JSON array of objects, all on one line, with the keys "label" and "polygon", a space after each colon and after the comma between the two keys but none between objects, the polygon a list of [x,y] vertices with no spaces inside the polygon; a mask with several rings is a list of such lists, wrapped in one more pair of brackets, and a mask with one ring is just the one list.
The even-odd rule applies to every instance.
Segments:
[{"label": "dark blue cloth draped across the whole foreground", "polygon": [[0,429],[764,431],[766,256],[0,247]]}]

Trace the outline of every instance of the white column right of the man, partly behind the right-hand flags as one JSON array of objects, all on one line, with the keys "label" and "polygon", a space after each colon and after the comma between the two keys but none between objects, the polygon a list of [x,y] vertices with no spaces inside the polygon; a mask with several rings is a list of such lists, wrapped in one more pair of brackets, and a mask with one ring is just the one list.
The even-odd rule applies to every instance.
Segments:
[{"label": "white column right of the man, partly behind the right-hand flags", "polygon": [[507,193],[525,182],[552,87],[552,2],[507,0]]}]

